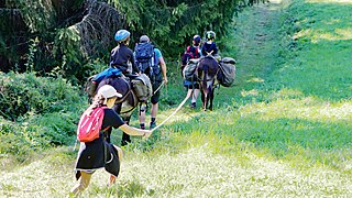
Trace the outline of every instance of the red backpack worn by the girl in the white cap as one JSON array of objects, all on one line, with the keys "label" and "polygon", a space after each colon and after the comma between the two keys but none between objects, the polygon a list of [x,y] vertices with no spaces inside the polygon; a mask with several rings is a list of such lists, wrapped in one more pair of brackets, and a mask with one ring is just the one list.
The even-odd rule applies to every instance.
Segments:
[{"label": "red backpack worn by the girl in the white cap", "polygon": [[90,113],[88,110],[84,112],[77,128],[77,139],[79,142],[91,142],[99,138],[99,132],[102,131],[103,109],[106,108],[96,108]]}]

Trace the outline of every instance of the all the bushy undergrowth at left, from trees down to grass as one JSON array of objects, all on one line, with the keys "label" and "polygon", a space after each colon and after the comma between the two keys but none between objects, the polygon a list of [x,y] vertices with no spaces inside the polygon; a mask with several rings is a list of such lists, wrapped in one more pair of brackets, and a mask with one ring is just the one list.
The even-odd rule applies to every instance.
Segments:
[{"label": "all the bushy undergrowth at left, from trees down to grass", "polygon": [[63,78],[0,73],[0,154],[25,161],[32,151],[75,142],[88,106],[80,90]]}]

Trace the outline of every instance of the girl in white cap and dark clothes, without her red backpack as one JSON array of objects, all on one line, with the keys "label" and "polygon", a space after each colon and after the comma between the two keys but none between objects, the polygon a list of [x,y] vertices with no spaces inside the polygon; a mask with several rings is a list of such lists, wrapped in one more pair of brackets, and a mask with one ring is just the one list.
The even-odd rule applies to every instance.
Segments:
[{"label": "girl in white cap and dark clothes, without her red backpack", "polygon": [[[97,107],[107,107],[103,109],[105,117],[101,130],[112,127],[119,128],[130,135],[148,138],[152,131],[136,129],[125,124],[120,116],[111,109],[118,97],[122,97],[121,94],[117,92],[112,86],[105,85],[98,90],[95,101],[85,113],[91,112]],[[85,190],[89,185],[91,175],[99,168],[105,168],[111,174],[109,185],[113,184],[120,172],[121,157],[121,148],[108,143],[102,132],[100,132],[98,139],[91,142],[81,142],[75,167],[76,179],[80,178],[80,180],[70,191],[70,196],[78,196]]]}]

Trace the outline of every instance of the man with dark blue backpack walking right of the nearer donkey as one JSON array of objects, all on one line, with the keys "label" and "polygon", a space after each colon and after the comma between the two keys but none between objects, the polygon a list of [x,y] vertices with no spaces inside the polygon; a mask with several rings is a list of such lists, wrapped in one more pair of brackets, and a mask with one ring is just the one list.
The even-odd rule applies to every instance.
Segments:
[{"label": "man with dark blue backpack walking right of the nearer donkey", "polygon": [[[160,88],[167,84],[166,64],[161,51],[151,43],[147,35],[140,37],[140,43],[135,45],[134,56],[136,65],[142,74],[146,74],[152,82],[153,96],[151,98],[151,123],[150,129],[156,127],[156,114],[158,110]],[[140,111],[140,125],[145,129],[145,110]]]}]

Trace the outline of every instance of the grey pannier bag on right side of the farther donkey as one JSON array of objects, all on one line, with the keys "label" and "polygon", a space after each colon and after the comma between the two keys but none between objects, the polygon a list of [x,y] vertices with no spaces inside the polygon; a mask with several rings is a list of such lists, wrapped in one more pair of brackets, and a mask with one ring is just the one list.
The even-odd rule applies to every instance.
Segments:
[{"label": "grey pannier bag on right side of the farther donkey", "polygon": [[230,87],[235,79],[235,59],[231,57],[224,57],[220,62],[220,70],[217,75],[217,79],[223,87]]}]

